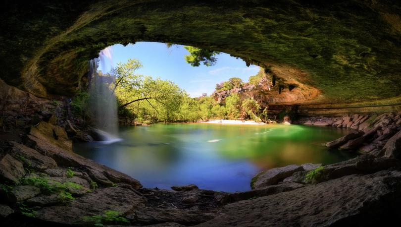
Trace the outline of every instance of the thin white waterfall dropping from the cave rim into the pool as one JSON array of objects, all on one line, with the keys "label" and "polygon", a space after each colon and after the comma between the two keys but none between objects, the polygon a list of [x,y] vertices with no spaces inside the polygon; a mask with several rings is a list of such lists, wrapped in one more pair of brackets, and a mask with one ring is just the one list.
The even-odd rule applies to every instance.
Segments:
[{"label": "thin white waterfall dropping from the cave rim into the pool", "polygon": [[95,117],[96,132],[102,143],[110,144],[118,138],[117,100],[113,93],[115,78],[107,73],[99,73],[99,62],[104,67],[105,57],[111,60],[110,49],[99,53],[99,58],[88,61],[89,95],[91,110]]}]

